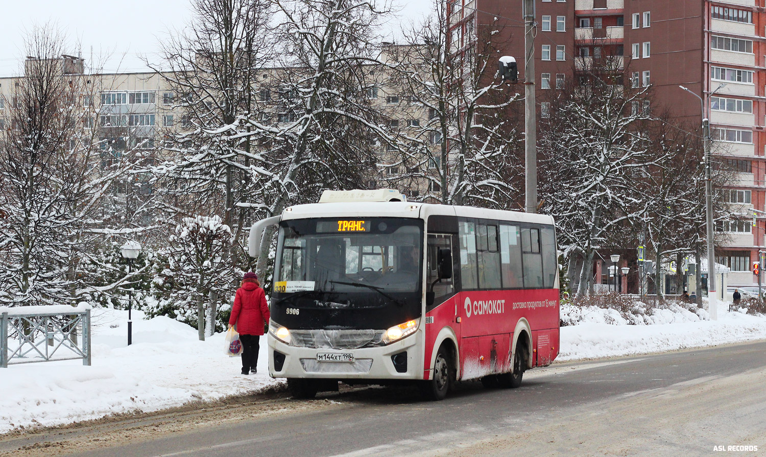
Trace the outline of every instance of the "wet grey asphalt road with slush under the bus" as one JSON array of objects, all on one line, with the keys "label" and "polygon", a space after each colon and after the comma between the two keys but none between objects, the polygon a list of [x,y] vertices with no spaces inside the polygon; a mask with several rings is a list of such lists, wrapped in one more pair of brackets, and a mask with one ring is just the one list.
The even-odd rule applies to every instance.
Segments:
[{"label": "wet grey asphalt road with slush under the bus", "polygon": [[17,436],[0,455],[766,455],[766,341],[555,364],[516,390],[463,384],[435,403],[405,388],[318,399]]}]

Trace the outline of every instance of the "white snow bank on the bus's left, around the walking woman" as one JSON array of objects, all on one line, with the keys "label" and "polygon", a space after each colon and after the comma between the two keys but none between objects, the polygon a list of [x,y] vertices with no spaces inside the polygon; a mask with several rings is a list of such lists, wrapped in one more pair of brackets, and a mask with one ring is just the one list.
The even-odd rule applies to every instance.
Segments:
[{"label": "white snow bank on the bus's left, around the walking woman", "polygon": [[143,320],[133,311],[93,310],[92,366],[82,361],[11,364],[0,369],[0,433],[55,426],[255,393],[278,384],[268,376],[266,338],[258,374],[242,376],[241,359],[224,354],[224,334],[198,341],[197,331],[171,318]]}]

